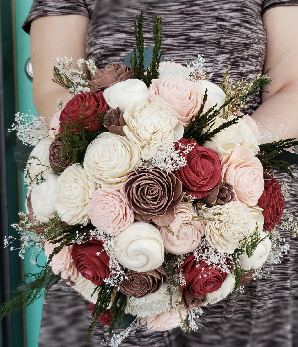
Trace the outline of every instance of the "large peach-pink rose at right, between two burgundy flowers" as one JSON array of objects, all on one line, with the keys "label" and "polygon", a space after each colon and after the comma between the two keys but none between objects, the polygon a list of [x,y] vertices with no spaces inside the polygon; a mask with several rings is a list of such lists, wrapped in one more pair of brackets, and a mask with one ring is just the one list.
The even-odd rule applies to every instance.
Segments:
[{"label": "large peach-pink rose at right, between two burgundy flowers", "polygon": [[237,147],[222,160],[222,181],[231,184],[235,200],[255,206],[264,191],[263,166],[252,151]]}]

